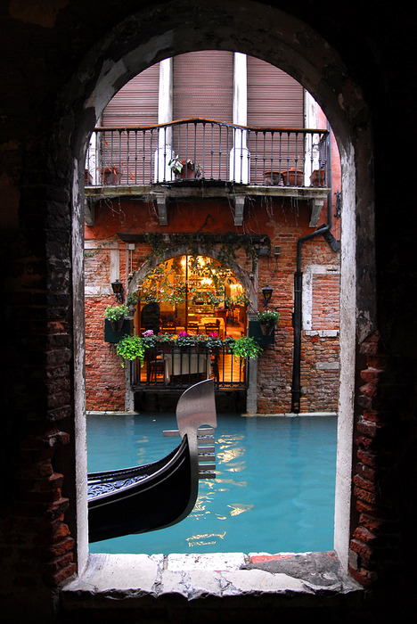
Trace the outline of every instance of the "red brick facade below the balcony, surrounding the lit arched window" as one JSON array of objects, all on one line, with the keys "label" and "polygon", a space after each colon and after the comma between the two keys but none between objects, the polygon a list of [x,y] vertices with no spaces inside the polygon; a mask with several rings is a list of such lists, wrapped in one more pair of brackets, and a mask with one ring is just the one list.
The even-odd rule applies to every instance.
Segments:
[{"label": "red brick facade below the balcony, surrounding the lit arched window", "polygon": [[[284,414],[291,407],[292,378],[292,309],[293,280],[298,238],[309,232],[307,202],[292,202],[282,198],[254,201],[245,218],[245,228],[257,234],[267,234],[271,242],[270,257],[258,258],[258,308],[263,309],[260,289],[266,283],[274,288],[271,307],[280,312],[274,345],[268,345],[258,358],[258,412]],[[133,205],[132,205],[133,204]],[[106,201],[95,208],[95,225],[86,226],[86,406],[94,410],[124,408],[126,382],[115,346],[103,341],[104,310],[114,302],[110,294],[110,253],[117,252],[119,275],[123,280],[132,270],[139,270],[148,259],[151,248],[135,243],[127,250],[118,232],[143,234],[146,218],[147,232],[165,233],[152,207],[140,201]],[[323,208],[325,219],[326,207]],[[227,233],[243,228],[233,226],[231,211],[222,201],[183,201],[170,208],[168,233],[200,231],[207,222],[208,232]],[[240,231],[239,231],[240,230]],[[339,236],[339,222],[332,229]],[[204,229],[201,230],[204,234]],[[105,235],[105,238],[103,238]],[[94,237],[94,238],[93,238]],[[274,246],[280,246],[278,259]],[[249,273],[244,250],[235,261]],[[320,262],[335,273],[315,275],[311,296],[311,331],[303,331],[301,365],[301,411],[336,412],[339,397],[339,252],[330,249],[323,237],[309,242],[303,250],[303,269]],[[128,266],[127,266],[128,264]],[[123,280],[124,281],[124,280]],[[126,286],[127,281],[125,281]],[[316,331],[315,331],[316,330]],[[329,335],[330,334],[330,335]]]}]

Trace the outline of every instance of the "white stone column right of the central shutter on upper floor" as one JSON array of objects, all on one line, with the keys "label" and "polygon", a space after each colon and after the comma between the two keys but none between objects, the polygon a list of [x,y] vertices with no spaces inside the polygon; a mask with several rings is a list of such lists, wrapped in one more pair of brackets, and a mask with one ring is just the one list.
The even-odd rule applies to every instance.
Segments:
[{"label": "white stone column right of the central shutter on upper floor", "polygon": [[[233,124],[248,123],[248,77],[246,54],[234,53],[233,58]],[[230,152],[229,178],[247,185],[249,183],[249,150],[246,146],[246,130],[236,129]]]}]

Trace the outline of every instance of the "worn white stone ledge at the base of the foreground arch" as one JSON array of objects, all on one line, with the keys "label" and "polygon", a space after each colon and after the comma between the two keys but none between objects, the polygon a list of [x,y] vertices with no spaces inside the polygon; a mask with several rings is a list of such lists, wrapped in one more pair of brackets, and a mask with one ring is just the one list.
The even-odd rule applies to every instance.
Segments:
[{"label": "worn white stone ledge at the base of the foreground arch", "polygon": [[91,554],[83,575],[61,588],[65,611],[164,603],[176,597],[186,602],[236,596],[297,596],[315,601],[352,595],[363,587],[345,573],[331,553],[268,555],[230,554]]}]

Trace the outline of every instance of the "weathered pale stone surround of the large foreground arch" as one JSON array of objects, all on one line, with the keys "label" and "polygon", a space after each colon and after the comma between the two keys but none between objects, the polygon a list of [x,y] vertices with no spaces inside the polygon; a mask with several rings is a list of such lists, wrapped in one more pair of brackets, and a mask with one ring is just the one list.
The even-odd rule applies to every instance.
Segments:
[{"label": "weathered pale stone surround of the large foreground arch", "polygon": [[[345,93],[345,101],[343,107],[340,105],[340,98],[338,90],[333,92],[334,85],[332,79],[328,78],[323,80],[323,64],[335,62],[337,55],[331,50],[330,47],[326,48],[326,58],[323,62],[323,42],[319,37],[316,37],[305,25],[301,25],[298,22],[293,21],[288,15],[282,12],[275,12],[274,9],[268,9],[262,16],[258,16],[255,11],[257,4],[244,3],[245,7],[249,8],[249,15],[257,14],[257,26],[261,28],[260,24],[267,24],[269,21],[275,21],[277,15],[281,19],[281,23],[286,26],[286,29],[282,28],[282,32],[277,37],[274,37],[274,46],[268,44],[259,43],[257,37],[257,30],[253,29],[253,23],[249,23],[246,17],[241,13],[239,14],[239,34],[238,38],[241,43],[241,49],[244,52],[253,53],[262,58],[273,62],[276,65],[282,66],[284,69],[290,70],[293,75],[299,79],[299,81],[306,85],[312,94],[315,95],[317,100],[322,104],[323,110],[326,112],[329,119],[331,119],[331,125],[339,140],[339,150],[342,161],[342,194],[344,201],[344,220],[342,231],[342,302],[343,302],[343,317],[341,319],[341,383],[340,383],[340,409],[339,409],[339,460],[338,460],[338,482],[337,482],[337,504],[336,504],[336,529],[335,529],[335,547],[338,551],[341,561],[347,566],[347,544],[348,544],[348,525],[349,525],[349,497],[350,497],[350,464],[351,464],[351,445],[352,445],[352,425],[353,425],[353,391],[354,391],[354,372],[355,372],[355,329],[356,329],[356,303],[361,310],[361,315],[366,320],[359,326],[358,335],[364,336],[372,326],[373,315],[372,310],[369,313],[369,305],[365,306],[364,302],[356,301],[356,226],[355,226],[355,214],[356,209],[360,209],[365,215],[365,221],[367,225],[372,224],[372,185],[369,182],[367,176],[364,173],[361,174],[359,163],[370,158],[370,144],[368,143],[368,136],[366,131],[359,138],[357,134],[353,135],[353,128],[355,126],[355,120],[359,114],[359,110],[363,108],[363,103],[357,101],[356,98],[349,100],[349,94]],[[218,13],[214,11],[219,10],[224,14],[231,10],[231,7],[226,4],[222,7],[202,7],[200,19],[200,29],[198,36],[196,31],[190,29],[186,21],[181,23],[184,18],[182,15],[182,7],[178,9],[176,6],[176,20],[174,27],[178,37],[177,43],[172,43],[172,50],[170,52],[186,52],[192,49],[201,49],[208,46],[208,40],[212,37],[213,27],[218,29],[220,23]],[[204,14],[204,19],[203,19]],[[230,18],[229,14],[229,18]],[[236,18],[236,16],[233,16]],[[141,15],[142,28],[145,29],[146,19],[144,15]],[[149,23],[155,24],[156,16],[152,14],[146,15]],[[213,24],[213,21],[215,23]],[[225,22],[224,22],[225,23]],[[227,23],[227,21],[226,21]],[[236,28],[236,22],[233,22],[233,28]],[[297,50],[290,45],[292,29],[297,25],[301,30],[304,30],[307,34],[309,44],[304,46],[299,44]],[[160,50],[166,51],[166,45],[163,45],[165,29],[163,25],[159,26],[160,32],[158,37],[152,42],[152,59],[151,62],[156,60],[156,57],[163,58],[164,54],[158,52]],[[267,29],[266,29],[267,30]],[[201,31],[204,36],[201,37]],[[234,30],[233,30],[234,32]],[[235,34],[235,32],[234,32]],[[230,34],[231,35],[231,34]],[[229,37],[230,37],[229,35]],[[243,36],[244,35],[244,36]],[[183,36],[183,37],[181,37]],[[228,37],[226,37],[227,39]],[[280,45],[276,46],[276,39],[279,39]],[[180,41],[181,39],[181,41]],[[300,38],[301,40],[301,38]],[[148,41],[148,37],[143,37],[143,41]],[[227,47],[229,41],[222,41],[220,47]],[[311,54],[311,46],[315,47],[317,56]],[[144,69],[145,66],[150,65],[149,54],[145,53],[146,45],[132,45],[131,49],[125,49],[123,46],[119,50],[119,59],[114,62],[110,72],[102,72],[101,76],[94,77],[94,92],[92,92],[89,98],[84,98],[86,102],[86,115],[85,121],[85,133],[78,134],[78,144],[82,146],[86,135],[92,130],[92,125],[97,117],[103,105],[110,100],[112,94],[115,93],[117,87],[126,82],[127,79],[138,70]],[[122,49],[123,48],[123,49]],[[274,49],[273,49],[274,48]],[[308,51],[307,51],[308,48]],[[320,52],[318,52],[320,50]],[[105,54],[105,50],[102,51],[102,55]],[[95,53],[95,51],[94,51]],[[166,52],[165,52],[166,53]],[[122,62],[123,59],[123,62]],[[308,59],[308,62],[307,62]],[[312,61],[312,59],[315,59]],[[89,60],[86,60],[86,65],[89,66]],[[105,74],[105,76],[104,76]],[[339,74],[344,74],[342,66],[340,66]],[[344,80],[348,81],[347,75],[343,75]],[[348,102],[347,102],[348,101]],[[94,109],[94,112],[92,111]],[[362,128],[366,130],[365,128]],[[75,154],[78,157],[79,170],[84,170],[84,152],[83,147],[79,148],[79,151]],[[357,175],[356,175],[357,174]],[[74,176],[74,266],[75,266],[75,293],[80,295],[80,288],[77,284],[80,279],[79,271],[79,258],[81,256],[80,242],[82,237],[80,236],[80,201],[78,196],[78,171]],[[356,193],[360,191],[359,206],[356,207]],[[366,228],[365,228],[366,229]],[[371,228],[372,232],[372,228]],[[363,232],[359,231],[359,236]],[[369,230],[368,233],[369,235]],[[356,242],[356,244],[355,244]],[[360,241],[359,241],[360,244]],[[345,267],[345,272],[344,272]],[[367,276],[365,276],[367,279]],[[362,277],[364,280],[364,277]],[[360,290],[360,289],[358,289]],[[82,300],[82,297],[80,297]],[[361,306],[361,303],[363,304]],[[368,313],[368,314],[367,314]],[[76,309],[76,320],[81,317],[80,308]],[[82,327],[82,323],[79,325]],[[76,371],[76,382],[78,382],[78,388],[83,389],[83,374],[81,370],[83,345],[82,339],[76,335],[76,360],[78,367]],[[82,396],[78,396],[76,405],[77,410],[77,423],[81,431],[79,436],[82,439],[83,436],[83,400]],[[82,459],[82,453],[78,456],[78,562],[81,569],[86,564],[86,495],[84,490],[86,489],[86,463]],[[84,493],[83,493],[84,492]],[[84,505],[84,509],[83,509]],[[83,517],[84,516],[84,517]]]}]

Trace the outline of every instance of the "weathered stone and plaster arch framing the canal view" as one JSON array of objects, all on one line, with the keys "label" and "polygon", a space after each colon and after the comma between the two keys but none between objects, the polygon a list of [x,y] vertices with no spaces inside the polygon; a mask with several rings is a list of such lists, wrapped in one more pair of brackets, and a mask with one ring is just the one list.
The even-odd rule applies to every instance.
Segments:
[{"label": "weathered stone and plaster arch framing the canal view", "polygon": [[[192,18],[189,10],[192,7]],[[260,10],[261,9],[261,10]],[[271,24],[279,24],[271,35]],[[166,58],[168,55],[205,49],[239,49],[276,64],[290,73],[314,95],[330,119],[338,139],[343,170],[342,194],[344,198],[344,230],[342,239],[343,266],[349,268],[348,279],[343,281],[344,314],[341,319],[341,370],[340,387],[340,453],[345,457],[343,470],[339,471],[337,526],[335,546],[347,567],[350,453],[353,431],[353,390],[355,376],[356,336],[364,341],[375,329],[374,288],[372,267],[373,190],[372,177],[364,163],[372,160],[369,114],[360,97],[360,90],[348,76],[338,53],[327,45],[306,24],[270,6],[242,2],[176,2],[161,7],[151,7],[131,16],[117,25],[106,39],[86,56],[77,76],[63,96],[62,111],[57,121],[55,136],[67,135],[66,127],[74,125],[73,151],[59,152],[58,142],[53,145],[54,162],[62,170],[73,166],[73,258],[75,260],[75,301],[82,301],[80,270],[77,258],[82,248],[82,189],[78,188],[78,173],[84,171],[84,154],[87,137],[94,127],[105,104],[120,86],[139,71]],[[81,80],[88,76],[88,80]],[[62,134],[64,133],[64,134]],[[67,142],[64,142],[67,144]],[[58,152],[57,152],[58,151]],[[356,201],[356,197],[359,198]],[[356,229],[356,218],[361,226]],[[355,244],[356,241],[356,244]],[[371,242],[371,244],[370,244]],[[357,277],[355,267],[360,263],[368,271]],[[347,272],[345,271],[345,275]],[[354,277],[355,279],[352,279]],[[356,315],[356,308],[359,313]],[[74,318],[81,331],[82,306],[76,303]],[[359,319],[356,327],[353,319]],[[344,327],[344,329],[343,329]],[[356,333],[355,333],[356,332]],[[83,352],[82,338],[76,333],[75,359]],[[83,387],[82,370],[76,366],[76,386]],[[76,419],[81,417],[82,400],[76,398]],[[78,458],[78,464],[85,461]],[[81,469],[80,469],[81,472]],[[82,480],[81,480],[82,481]],[[85,484],[81,483],[81,488]],[[78,561],[86,564],[86,495],[80,494],[78,505]]]}]

